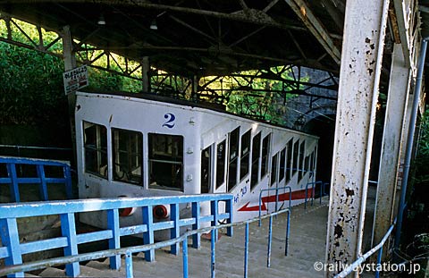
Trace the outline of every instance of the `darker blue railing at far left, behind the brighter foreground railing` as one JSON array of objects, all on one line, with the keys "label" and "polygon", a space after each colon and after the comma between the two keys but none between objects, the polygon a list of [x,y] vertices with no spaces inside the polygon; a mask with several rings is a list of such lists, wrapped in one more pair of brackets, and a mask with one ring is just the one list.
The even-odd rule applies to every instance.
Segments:
[{"label": "darker blue railing at far left, behind the brighter foreground railing", "polygon": [[[64,161],[52,161],[45,159],[21,158],[21,157],[0,157],[0,165],[5,164],[7,169],[7,177],[0,176],[0,186],[2,184],[10,184],[11,201],[19,203],[21,201],[19,184],[20,183],[38,183],[41,200],[47,201],[47,184],[48,183],[63,183],[65,185],[65,193],[67,198],[71,199],[71,170],[70,164]],[[18,175],[17,165],[34,165],[37,171],[37,177],[21,177]],[[63,169],[63,177],[54,178],[46,177],[46,166],[59,167]]]}]

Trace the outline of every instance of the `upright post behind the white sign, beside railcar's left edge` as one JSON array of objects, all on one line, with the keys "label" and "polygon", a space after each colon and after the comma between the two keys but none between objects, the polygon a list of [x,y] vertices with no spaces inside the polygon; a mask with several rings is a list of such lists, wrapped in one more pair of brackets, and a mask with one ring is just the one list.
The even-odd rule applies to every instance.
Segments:
[{"label": "upright post behind the white sign, beside railcar's left edge", "polygon": [[[71,71],[76,68],[76,56],[73,52],[73,40],[71,38],[71,32],[69,26],[63,27],[63,59],[64,59],[64,70],[65,72]],[[74,122],[74,110],[76,106],[76,94],[71,92],[67,95],[67,100],[69,103],[69,119],[70,119],[70,129],[71,129],[71,148],[73,150],[73,161],[71,165],[76,165],[76,129]]]}]

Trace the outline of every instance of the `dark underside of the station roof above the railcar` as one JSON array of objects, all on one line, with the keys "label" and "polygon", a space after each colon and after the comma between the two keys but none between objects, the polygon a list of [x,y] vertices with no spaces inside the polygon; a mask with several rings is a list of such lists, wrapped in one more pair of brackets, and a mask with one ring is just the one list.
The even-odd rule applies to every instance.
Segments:
[{"label": "dark underside of the station roof above the railcar", "polygon": [[[429,1],[421,2],[429,10]],[[14,0],[0,1],[0,13],[47,30],[69,25],[73,38],[97,48],[136,61],[148,56],[166,72],[205,76],[284,64],[339,72],[345,3]]]}]

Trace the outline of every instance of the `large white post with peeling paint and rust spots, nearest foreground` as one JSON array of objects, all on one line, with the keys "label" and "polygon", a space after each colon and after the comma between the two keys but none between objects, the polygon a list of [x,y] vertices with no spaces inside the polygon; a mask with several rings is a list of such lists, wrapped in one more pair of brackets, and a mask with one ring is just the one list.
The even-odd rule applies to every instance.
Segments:
[{"label": "large white post with peeling paint and rust spots, nearest foreground", "polygon": [[[361,255],[366,192],[389,0],[348,1],[332,162],[326,262]],[[328,267],[332,277],[341,269]],[[358,274],[356,274],[358,276]]]}]

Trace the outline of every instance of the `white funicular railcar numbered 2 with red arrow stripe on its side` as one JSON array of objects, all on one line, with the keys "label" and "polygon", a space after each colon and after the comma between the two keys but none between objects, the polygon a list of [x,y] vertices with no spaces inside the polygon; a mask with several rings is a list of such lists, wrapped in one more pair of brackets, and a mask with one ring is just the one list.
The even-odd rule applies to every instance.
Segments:
[{"label": "white funicular railcar numbered 2 with red arrow stripe on its side", "polygon": [[[167,97],[77,93],[80,198],[229,192],[234,221],[241,221],[258,215],[261,190],[263,214],[289,206],[285,186],[292,206],[304,201],[306,185],[315,178],[317,140]],[[202,206],[201,215],[209,209]],[[182,215],[189,211],[181,207]],[[154,208],[158,221],[168,214],[169,207]],[[126,224],[141,219],[132,208],[121,215]],[[105,226],[100,219],[80,217]]]}]

